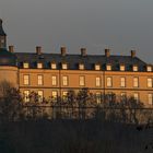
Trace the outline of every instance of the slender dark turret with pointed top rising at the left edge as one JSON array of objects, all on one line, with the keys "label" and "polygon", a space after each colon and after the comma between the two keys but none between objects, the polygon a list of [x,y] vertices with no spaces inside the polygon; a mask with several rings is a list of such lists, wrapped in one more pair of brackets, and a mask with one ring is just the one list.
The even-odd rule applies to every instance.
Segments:
[{"label": "slender dark turret with pointed top rising at the left edge", "polygon": [[0,19],[0,48],[7,47],[7,34],[3,31],[2,27],[2,20]]}]

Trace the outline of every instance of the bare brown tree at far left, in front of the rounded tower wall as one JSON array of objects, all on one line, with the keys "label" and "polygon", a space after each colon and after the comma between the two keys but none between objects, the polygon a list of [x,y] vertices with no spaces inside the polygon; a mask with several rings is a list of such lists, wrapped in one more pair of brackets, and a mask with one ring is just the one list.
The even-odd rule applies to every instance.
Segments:
[{"label": "bare brown tree at far left, in front of the rounded tower wall", "polygon": [[14,121],[23,116],[23,98],[20,91],[10,82],[0,83],[0,119],[1,121]]}]

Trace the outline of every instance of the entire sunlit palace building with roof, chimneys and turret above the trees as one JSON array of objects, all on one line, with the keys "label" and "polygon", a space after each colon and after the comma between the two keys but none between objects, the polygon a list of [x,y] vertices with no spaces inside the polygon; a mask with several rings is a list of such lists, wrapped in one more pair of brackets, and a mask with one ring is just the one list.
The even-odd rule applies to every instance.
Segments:
[{"label": "entire sunlit palace building with roof, chimneys and turret above the trees", "polygon": [[[7,49],[7,34],[0,20],[0,81],[7,80],[28,96],[35,91],[42,97],[64,96],[69,90],[87,87],[97,97],[102,94],[127,95],[153,105],[153,66],[131,50],[129,56],[87,55],[85,48],[71,55],[66,47],[60,54],[15,52]],[[28,101],[25,99],[25,101]]]}]

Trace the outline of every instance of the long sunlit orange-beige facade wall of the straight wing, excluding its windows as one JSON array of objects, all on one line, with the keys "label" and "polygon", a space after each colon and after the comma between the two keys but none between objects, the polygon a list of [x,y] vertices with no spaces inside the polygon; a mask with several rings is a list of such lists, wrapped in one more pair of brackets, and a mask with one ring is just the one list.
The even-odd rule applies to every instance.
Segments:
[{"label": "long sunlit orange-beige facade wall of the straight wing, excluding its windows", "polygon": [[[148,105],[148,94],[153,94],[153,87],[148,87],[148,78],[153,79],[153,72],[119,72],[119,71],[87,71],[87,70],[44,70],[44,69],[20,69],[20,90],[44,91],[44,96],[51,96],[52,91],[57,91],[58,95],[62,92],[82,87],[89,87],[92,93],[116,93],[120,95],[126,93],[127,96],[132,96],[134,93],[139,94],[139,98]],[[23,75],[30,75],[30,85],[23,84]],[[37,75],[42,74],[44,78],[43,85],[37,84]],[[57,76],[57,85],[51,84],[51,76]],[[62,76],[68,76],[68,85],[62,84]],[[79,78],[85,78],[85,85],[79,84]],[[101,86],[96,86],[96,78],[101,78]],[[107,87],[107,78],[113,79],[113,86]],[[126,79],[126,86],[120,86],[120,78]],[[133,87],[133,78],[138,78],[139,86]]]}]

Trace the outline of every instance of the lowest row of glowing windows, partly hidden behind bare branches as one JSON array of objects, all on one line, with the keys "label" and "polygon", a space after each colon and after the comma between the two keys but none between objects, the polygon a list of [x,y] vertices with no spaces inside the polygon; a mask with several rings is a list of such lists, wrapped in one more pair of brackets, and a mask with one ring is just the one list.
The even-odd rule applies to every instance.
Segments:
[{"label": "lowest row of glowing windows, partly hidden behind bare branches", "polygon": [[[38,94],[38,102],[43,102],[43,97],[44,97],[44,92],[43,91],[38,91],[37,92]],[[64,98],[67,96],[68,92],[67,91],[63,91],[62,92],[62,97]],[[111,95],[113,93],[108,93],[108,95]],[[101,92],[97,92],[96,94],[96,103],[102,103],[102,94]],[[122,98],[125,98],[127,95],[125,92],[120,93],[120,96]],[[133,98],[139,102],[139,93],[133,93]],[[52,91],[51,92],[51,98],[57,101],[57,97],[58,97],[58,91]],[[109,99],[108,101],[111,101],[111,96],[108,97]],[[30,91],[26,90],[24,91],[24,102],[30,102]],[[153,105],[153,94],[152,93],[149,93],[148,94],[148,104],[149,105]]]}]

